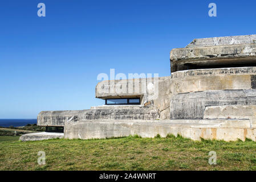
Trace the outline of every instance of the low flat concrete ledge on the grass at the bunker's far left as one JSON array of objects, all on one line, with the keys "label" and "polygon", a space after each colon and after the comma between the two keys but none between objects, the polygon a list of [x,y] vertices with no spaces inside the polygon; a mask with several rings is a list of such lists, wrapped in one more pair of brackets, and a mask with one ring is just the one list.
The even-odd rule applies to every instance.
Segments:
[{"label": "low flat concrete ledge on the grass at the bunker's far left", "polygon": [[64,137],[63,133],[40,132],[40,133],[24,134],[19,139],[22,140],[22,142],[25,142],[25,141],[47,140],[47,139],[63,138],[63,137]]}]

